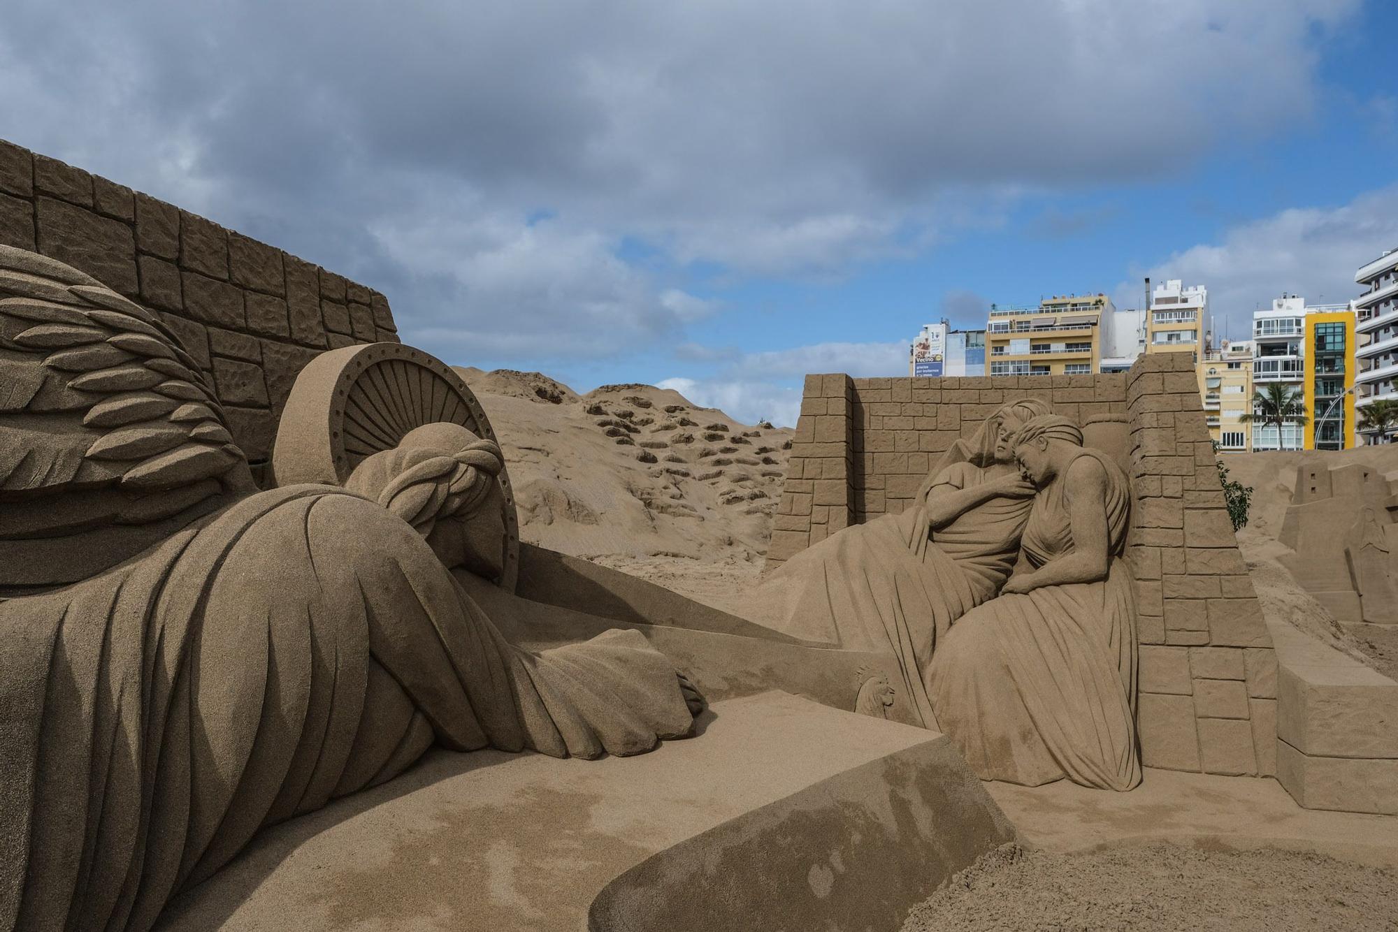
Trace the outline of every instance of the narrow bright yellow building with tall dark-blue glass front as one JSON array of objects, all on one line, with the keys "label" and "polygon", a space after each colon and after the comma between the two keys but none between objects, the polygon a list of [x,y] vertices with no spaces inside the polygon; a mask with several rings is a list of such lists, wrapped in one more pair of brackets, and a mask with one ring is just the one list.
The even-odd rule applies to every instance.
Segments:
[{"label": "narrow bright yellow building with tall dark-blue glass front", "polygon": [[1346,305],[1306,309],[1302,390],[1310,423],[1306,450],[1355,449],[1355,312]]}]

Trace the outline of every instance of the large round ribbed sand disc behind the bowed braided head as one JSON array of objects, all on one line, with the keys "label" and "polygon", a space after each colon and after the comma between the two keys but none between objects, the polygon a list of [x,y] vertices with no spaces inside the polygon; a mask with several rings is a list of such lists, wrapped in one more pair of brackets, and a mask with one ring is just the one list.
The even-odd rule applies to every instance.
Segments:
[{"label": "large round ribbed sand disc behind the bowed braided head", "polygon": [[[414,428],[459,423],[477,436],[499,440],[461,377],[435,356],[396,342],[343,347],[312,359],[287,398],[277,428],[273,472],[277,485],[344,485],[365,458],[391,450]],[[499,585],[510,592],[519,580],[520,531],[509,474],[505,493],[505,571]]]}]

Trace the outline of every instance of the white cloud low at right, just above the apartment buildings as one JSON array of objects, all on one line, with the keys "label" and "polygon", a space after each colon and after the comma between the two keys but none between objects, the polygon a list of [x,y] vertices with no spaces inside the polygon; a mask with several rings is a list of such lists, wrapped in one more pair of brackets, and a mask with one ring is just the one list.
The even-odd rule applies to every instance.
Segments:
[{"label": "white cloud low at right, just above the apartment buildings", "polygon": [[[1369,191],[1342,207],[1292,208],[1241,224],[1218,243],[1177,252],[1142,275],[1206,285],[1220,335],[1244,337],[1253,310],[1269,307],[1272,298],[1283,291],[1310,303],[1357,298],[1355,270],[1394,247],[1398,247],[1398,184]],[[1139,306],[1139,284],[1123,282],[1114,300],[1123,307]]]}]

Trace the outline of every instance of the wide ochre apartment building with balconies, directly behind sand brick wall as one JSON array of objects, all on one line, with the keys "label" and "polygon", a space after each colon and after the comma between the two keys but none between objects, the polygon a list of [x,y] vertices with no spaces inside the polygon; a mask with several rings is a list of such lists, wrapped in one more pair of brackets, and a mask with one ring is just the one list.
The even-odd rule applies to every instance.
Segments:
[{"label": "wide ochre apartment building with balconies, directly behind sand brick wall", "polygon": [[1046,298],[1037,306],[991,305],[986,327],[991,376],[1088,376],[1102,356],[1103,293]]}]

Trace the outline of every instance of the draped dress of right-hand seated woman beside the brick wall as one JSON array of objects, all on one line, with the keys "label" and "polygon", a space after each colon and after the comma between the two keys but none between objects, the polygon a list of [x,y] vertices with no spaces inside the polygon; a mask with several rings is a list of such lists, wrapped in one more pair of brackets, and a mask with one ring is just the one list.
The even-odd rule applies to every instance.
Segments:
[{"label": "draped dress of right-hand seated woman beside the brick wall", "polygon": [[[937,721],[983,780],[1141,782],[1137,609],[1120,559],[1131,493],[1109,457],[1079,456],[1107,474],[1107,578],[1000,595],[952,627],[927,669]],[[1035,497],[1021,541],[1035,569],[1074,549],[1064,485],[1060,476]]]}]

